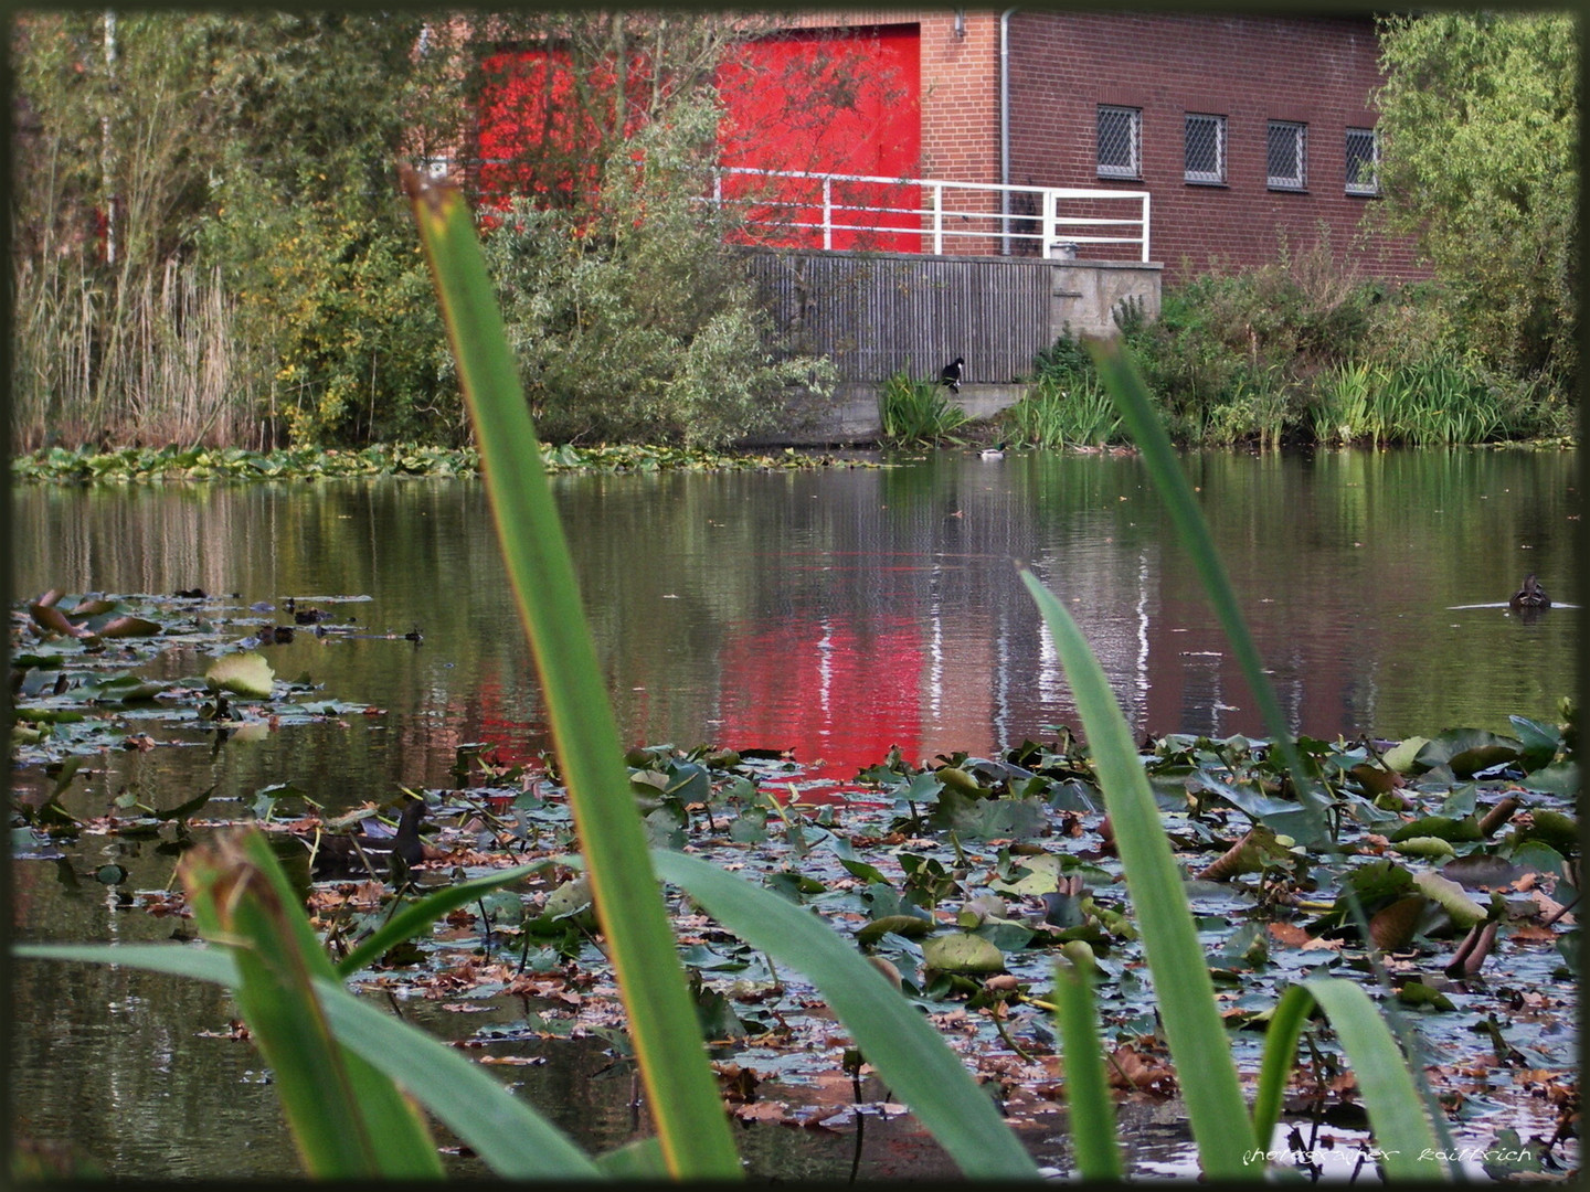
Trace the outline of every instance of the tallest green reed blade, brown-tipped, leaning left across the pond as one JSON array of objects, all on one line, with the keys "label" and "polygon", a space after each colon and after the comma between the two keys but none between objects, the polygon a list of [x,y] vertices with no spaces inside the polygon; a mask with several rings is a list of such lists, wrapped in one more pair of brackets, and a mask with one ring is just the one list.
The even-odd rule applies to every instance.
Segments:
[{"label": "tallest green reed blade, brown-tipped, leaning left across the pond", "polygon": [[739,1176],[469,207],[455,188],[409,168],[404,186],[480,442],[502,559],[536,658],[591,896],[668,1168],[676,1178]]}]

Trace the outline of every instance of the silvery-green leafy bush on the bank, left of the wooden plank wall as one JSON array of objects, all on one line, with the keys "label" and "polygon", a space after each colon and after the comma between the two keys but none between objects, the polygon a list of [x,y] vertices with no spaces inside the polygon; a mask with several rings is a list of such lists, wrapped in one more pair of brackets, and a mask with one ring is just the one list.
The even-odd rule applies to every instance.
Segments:
[{"label": "silvery-green leafy bush on the bank, left of the wooden plank wall", "polygon": [[[825,362],[771,346],[728,218],[701,205],[716,113],[615,151],[587,208],[515,200],[487,219],[487,262],[541,435],[717,447],[778,424]],[[644,218],[638,218],[644,213]]]}]

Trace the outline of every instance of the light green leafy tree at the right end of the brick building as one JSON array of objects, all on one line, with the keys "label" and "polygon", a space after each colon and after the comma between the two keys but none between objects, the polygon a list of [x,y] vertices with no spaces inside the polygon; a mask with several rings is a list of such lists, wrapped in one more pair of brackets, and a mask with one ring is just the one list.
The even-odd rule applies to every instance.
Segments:
[{"label": "light green leafy tree at the right end of the brick building", "polygon": [[1388,213],[1417,234],[1460,342],[1503,373],[1574,393],[1576,19],[1391,17],[1382,65]]}]

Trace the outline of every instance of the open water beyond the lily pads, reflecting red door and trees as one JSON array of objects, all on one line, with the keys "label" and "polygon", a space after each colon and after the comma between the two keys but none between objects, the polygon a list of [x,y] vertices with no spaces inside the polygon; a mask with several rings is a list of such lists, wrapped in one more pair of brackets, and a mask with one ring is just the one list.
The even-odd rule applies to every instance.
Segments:
[{"label": "open water beyond the lily pads, reflecting red door and trees", "polygon": [[[1453,606],[1506,599],[1526,571],[1573,599],[1574,464],[1523,451],[1188,459],[1293,726],[1390,737],[1555,717],[1577,610],[1525,623]],[[1137,459],[943,453],[884,470],[555,483],[634,742],[795,749],[854,772],[890,745],[987,752],[1073,723],[1016,564],[1072,609],[1137,731],[1261,728]],[[258,599],[364,594],[347,607],[366,629],[423,628],[418,648],[307,633],[273,647],[278,674],[388,715],[272,741],[261,763],[434,785],[460,742],[509,757],[545,745],[475,482],[30,488],[16,517],[22,593],[202,586],[238,593],[237,617]],[[231,777],[191,761],[194,782],[264,780],[248,758]]]}]

